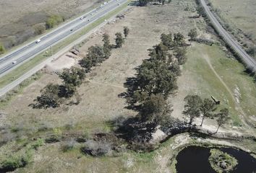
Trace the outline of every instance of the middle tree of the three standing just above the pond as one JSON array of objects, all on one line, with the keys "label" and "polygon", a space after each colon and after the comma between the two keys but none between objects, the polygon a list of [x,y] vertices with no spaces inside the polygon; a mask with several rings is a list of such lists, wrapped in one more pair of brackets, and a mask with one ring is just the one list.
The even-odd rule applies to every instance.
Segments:
[{"label": "middle tree of the three standing just above the pond", "polygon": [[204,99],[202,102],[202,105],[200,106],[200,111],[202,112],[202,122],[205,120],[205,118],[213,117],[213,112],[216,110],[216,104],[211,99]]}]

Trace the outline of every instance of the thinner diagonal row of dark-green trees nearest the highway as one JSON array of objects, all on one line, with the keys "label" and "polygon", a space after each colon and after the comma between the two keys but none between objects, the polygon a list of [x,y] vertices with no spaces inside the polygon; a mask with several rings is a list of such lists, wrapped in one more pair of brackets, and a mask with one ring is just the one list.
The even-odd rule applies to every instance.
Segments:
[{"label": "thinner diagonal row of dark-green trees nearest the highway", "polygon": [[[124,27],[124,37],[129,34],[129,28]],[[88,49],[88,54],[82,58],[80,65],[83,67],[64,68],[59,78],[62,84],[48,84],[41,91],[41,95],[35,99],[36,103],[31,106],[34,108],[59,107],[64,101],[64,98],[73,97],[77,92],[77,87],[82,84],[85,79],[85,74],[90,71],[93,66],[97,66],[111,56],[112,48],[121,48],[124,43],[124,37],[121,32],[116,33],[116,45],[110,44],[109,35],[103,35],[103,46],[94,45]],[[77,97],[77,104],[80,102],[80,97]]]}]

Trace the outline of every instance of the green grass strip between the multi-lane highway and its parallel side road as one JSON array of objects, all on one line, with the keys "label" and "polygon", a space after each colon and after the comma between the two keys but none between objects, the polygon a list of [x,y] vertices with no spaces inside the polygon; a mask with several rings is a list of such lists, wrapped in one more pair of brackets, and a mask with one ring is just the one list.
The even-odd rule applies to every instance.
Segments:
[{"label": "green grass strip between the multi-lane highway and its parallel side road", "polygon": [[[117,9],[114,9],[114,11],[106,14],[104,17],[101,17],[100,19],[91,23],[90,25],[88,25],[88,27],[83,28],[79,32],[74,33],[74,35],[71,35],[71,36],[67,37],[67,39],[61,41],[60,43],[58,43],[54,46],[52,46],[53,54],[57,53],[59,50],[61,50],[61,48],[64,48],[65,46],[74,42],[75,40],[77,40],[82,35],[85,35],[90,30],[93,30],[93,28],[97,27],[102,22],[104,22],[105,19],[109,19],[109,18],[113,17],[115,14],[117,14],[118,12],[121,12],[121,10],[124,9],[128,4],[129,4],[129,1],[127,1],[127,3],[125,3],[125,4],[122,4]],[[15,81],[20,76],[25,74],[27,71],[30,71],[31,68],[33,68],[34,66],[38,65],[39,63],[45,61],[47,58],[49,58],[49,57],[46,56],[46,53],[42,52],[38,56],[35,56],[34,58],[32,58],[30,61],[27,61],[26,63],[23,63],[21,66],[15,68],[13,71],[10,71],[5,76],[2,76],[0,78],[0,88],[6,86],[7,84],[11,83],[12,81]]]}]

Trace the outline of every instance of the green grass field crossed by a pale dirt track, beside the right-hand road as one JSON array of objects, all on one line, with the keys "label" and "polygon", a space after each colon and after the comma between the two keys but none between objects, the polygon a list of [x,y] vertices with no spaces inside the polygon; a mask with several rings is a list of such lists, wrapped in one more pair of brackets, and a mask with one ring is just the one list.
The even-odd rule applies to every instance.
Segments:
[{"label": "green grass field crossed by a pale dirt track, beside the right-hand road", "polygon": [[241,63],[227,58],[226,53],[216,45],[196,44],[187,56],[189,60],[184,69],[196,82],[193,92],[202,97],[212,95],[219,99],[221,107],[231,110],[234,125],[241,123],[239,115],[247,119],[255,117],[256,86]]}]

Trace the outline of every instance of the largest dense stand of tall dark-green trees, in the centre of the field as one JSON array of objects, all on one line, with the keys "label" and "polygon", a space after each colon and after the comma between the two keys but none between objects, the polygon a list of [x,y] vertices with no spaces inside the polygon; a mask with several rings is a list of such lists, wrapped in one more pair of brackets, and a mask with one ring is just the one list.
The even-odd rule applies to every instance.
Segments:
[{"label": "largest dense stand of tall dark-green trees, in the centre of the field", "polygon": [[171,112],[166,99],[178,88],[179,65],[186,61],[184,36],[162,34],[161,43],[149,49],[150,58],[137,68],[136,78],[128,88],[130,105],[138,105],[143,122],[159,124]]}]

